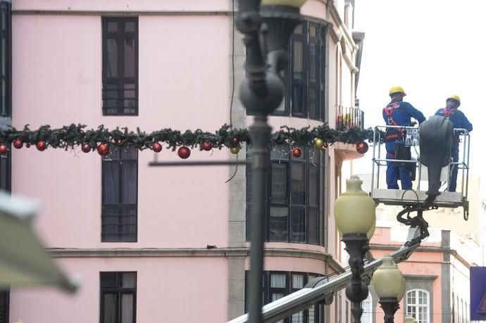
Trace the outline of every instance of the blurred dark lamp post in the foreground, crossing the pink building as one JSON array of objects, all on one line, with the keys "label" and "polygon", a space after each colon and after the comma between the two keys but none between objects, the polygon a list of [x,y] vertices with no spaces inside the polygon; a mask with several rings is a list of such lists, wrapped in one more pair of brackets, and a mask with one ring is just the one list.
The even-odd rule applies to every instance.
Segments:
[{"label": "blurred dark lamp post in the foreground, crossing the pink building", "polygon": [[265,179],[268,174],[271,127],[267,116],[284,96],[281,72],[287,66],[290,34],[299,24],[299,8],[306,0],[239,0],[237,28],[244,34],[247,47],[247,72],[239,90],[240,99],[254,117],[249,127],[253,146],[251,208],[251,248],[249,322],[261,322],[261,279],[263,275],[263,241],[265,239]]}]

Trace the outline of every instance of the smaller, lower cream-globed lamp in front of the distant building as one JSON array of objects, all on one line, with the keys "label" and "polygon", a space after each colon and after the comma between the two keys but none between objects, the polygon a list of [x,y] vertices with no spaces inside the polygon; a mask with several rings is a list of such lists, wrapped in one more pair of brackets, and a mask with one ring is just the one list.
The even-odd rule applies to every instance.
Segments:
[{"label": "smaller, lower cream-globed lamp in front of the distant building", "polygon": [[385,323],[394,323],[399,301],[404,297],[405,279],[392,257],[382,258],[382,265],[373,273],[371,283],[385,312]]}]

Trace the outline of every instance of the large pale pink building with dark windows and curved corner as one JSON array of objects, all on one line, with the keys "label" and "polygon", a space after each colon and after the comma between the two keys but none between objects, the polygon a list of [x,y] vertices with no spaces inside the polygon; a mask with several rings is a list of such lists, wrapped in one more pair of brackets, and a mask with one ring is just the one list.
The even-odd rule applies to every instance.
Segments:
[{"label": "large pale pink building with dark windows and curved corner", "polygon": [[[247,127],[252,118],[238,98],[244,46],[234,28],[236,2],[0,1],[1,115],[18,129]],[[351,30],[353,7],[354,0],[309,0],[302,8],[287,96],[270,118],[274,130],[362,126],[355,93],[364,34]],[[251,207],[244,167],[149,167],[154,152],[113,144],[106,158],[25,146],[1,158],[1,186],[42,201],[38,232],[82,287],[74,296],[4,291],[0,322],[225,322],[242,315]],[[342,162],[360,157],[344,144],[303,149],[300,158],[289,157],[289,146],[273,148],[267,303],[342,270],[332,203]],[[247,158],[245,148],[238,157]],[[236,156],[194,149],[190,158]],[[180,159],[164,149],[158,160]],[[344,293],[335,300],[292,322],[350,322]]]}]

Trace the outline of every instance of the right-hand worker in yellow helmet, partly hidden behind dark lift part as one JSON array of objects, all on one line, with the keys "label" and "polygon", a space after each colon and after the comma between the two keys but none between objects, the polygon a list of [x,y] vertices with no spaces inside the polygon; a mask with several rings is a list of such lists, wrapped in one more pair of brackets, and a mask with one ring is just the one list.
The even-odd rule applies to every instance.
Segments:
[{"label": "right-hand worker in yellow helmet, partly hidden behind dark lift part", "polygon": [[[473,125],[469,122],[466,115],[462,111],[458,110],[461,106],[461,99],[458,95],[451,95],[446,100],[446,107],[437,110],[435,115],[442,115],[449,119],[454,125],[454,129],[466,129],[468,132],[473,131]],[[454,163],[459,161],[459,133],[454,131],[454,139],[452,140],[451,157]],[[458,165],[451,166],[451,180],[449,182],[448,191],[455,192],[457,186],[457,171]]]}]

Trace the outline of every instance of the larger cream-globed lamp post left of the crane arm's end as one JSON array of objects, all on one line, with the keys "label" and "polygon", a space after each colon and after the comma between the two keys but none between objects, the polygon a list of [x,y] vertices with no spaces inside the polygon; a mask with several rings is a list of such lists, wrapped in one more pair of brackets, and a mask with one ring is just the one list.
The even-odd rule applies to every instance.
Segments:
[{"label": "larger cream-globed lamp post left of the crane arm's end", "polygon": [[363,190],[363,182],[357,176],[351,176],[347,181],[347,192],[337,198],[334,206],[334,216],[337,229],[346,243],[345,250],[349,253],[351,281],[346,286],[346,297],[353,302],[354,322],[361,322],[363,309],[361,302],[368,297],[368,286],[361,280],[363,273],[363,258],[369,250],[368,241],[375,229],[375,202]]}]

